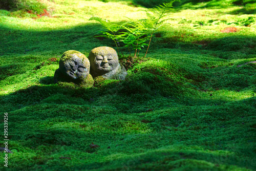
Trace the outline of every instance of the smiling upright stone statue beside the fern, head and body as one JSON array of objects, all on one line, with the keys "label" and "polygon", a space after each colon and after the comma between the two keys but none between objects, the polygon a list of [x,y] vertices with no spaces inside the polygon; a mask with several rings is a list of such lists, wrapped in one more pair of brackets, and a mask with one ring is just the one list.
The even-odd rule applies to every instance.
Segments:
[{"label": "smiling upright stone statue beside the fern, head and body", "polygon": [[127,71],[120,65],[117,53],[113,48],[94,48],[88,58],[91,63],[90,74],[94,78],[102,76],[105,79],[125,79]]}]

